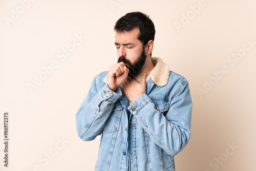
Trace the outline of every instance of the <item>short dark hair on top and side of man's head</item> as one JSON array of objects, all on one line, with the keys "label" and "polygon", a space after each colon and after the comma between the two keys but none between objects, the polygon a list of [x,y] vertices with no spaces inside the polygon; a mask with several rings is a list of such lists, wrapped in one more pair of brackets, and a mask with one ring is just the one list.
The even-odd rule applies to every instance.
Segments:
[{"label": "short dark hair on top and side of man's head", "polygon": [[[143,48],[148,41],[155,39],[155,26],[150,17],[142,12],[130,12],[119,18],[114,30],[117,32],[130,31],[139,28],[138,39],[142,42]],[[152,55],[152,53],[150,54]]]}]

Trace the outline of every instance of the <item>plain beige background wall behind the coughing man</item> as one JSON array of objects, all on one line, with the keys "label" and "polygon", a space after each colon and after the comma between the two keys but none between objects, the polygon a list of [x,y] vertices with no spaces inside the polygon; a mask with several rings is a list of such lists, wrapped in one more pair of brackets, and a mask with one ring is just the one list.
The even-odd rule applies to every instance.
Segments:
[{"label": "plain beige background wall behind the coughing man", "polygon": [[[135,10],[150,15],[155,24],[153,56],[189,82],[191,138],[175,157],[177,171],[256,170],[256,1],[28,2],[0,1],[0,170],[94,169],[100,137],[79,139],[75,114],[93,77],[117,60],[116,20]],[[196,14],[190,6],[198,4]],[[183,26],[177,29],[177,23]],[[75,35],[87,38],[75,47]],[[62,48],[74,51],[64,58]],[[243,57],[230,58],[234,53]],[[52,62],[55,68],[44,75],[43,67]],[[47,78],[30,92],[27,84],[40,74]],[[205,81],[214,85],[200,96]],[[2,143],[6,111],[8,168],[3,167]]]}]

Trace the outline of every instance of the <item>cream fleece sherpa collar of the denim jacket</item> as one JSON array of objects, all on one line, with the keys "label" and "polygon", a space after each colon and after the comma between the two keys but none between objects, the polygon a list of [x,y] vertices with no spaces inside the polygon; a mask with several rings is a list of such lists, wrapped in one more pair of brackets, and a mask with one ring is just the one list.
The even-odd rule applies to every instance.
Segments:
[{"label": "cream fleece sherpa collar of the denim jacket", "polygon": [[[151,70],[147,79],[151,78],[157,86],[165,86],[168,83],[170,71],[169,66],[159,57],[152,57],[151,60],[155,67]],[[103,81],[105,83],[108,82],[108,76],[106,76]]]}]

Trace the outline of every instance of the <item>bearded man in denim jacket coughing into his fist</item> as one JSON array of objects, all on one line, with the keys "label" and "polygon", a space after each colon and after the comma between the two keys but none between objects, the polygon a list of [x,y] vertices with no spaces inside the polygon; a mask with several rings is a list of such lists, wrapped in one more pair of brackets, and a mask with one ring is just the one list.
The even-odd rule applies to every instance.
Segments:
[{"label": "bearded man in denim jacket coughing into his fist", "polygon": [[190,138],[187,80],[152,57],[155,27],[141,12],[117,20],[118,62],[94,77],[76,113],[78,136],[101,135],[95,170],[175,170]]}]

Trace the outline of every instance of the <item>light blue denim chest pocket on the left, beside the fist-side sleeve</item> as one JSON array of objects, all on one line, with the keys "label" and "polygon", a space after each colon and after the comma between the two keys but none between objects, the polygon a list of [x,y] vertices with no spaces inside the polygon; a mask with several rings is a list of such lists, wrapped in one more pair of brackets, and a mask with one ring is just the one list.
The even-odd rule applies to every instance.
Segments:
[{"label": "light blue denim chest pocket on the left, beside the fist-side sleeve", "polygon": [[106,134],[110,134],[119,130],[119,125],[120,125],[122,111],[123,111],[122,109],[123,109],[123,105],[121,104],[120,100],[117,100],[103,128],[103,131]]}]

